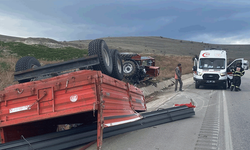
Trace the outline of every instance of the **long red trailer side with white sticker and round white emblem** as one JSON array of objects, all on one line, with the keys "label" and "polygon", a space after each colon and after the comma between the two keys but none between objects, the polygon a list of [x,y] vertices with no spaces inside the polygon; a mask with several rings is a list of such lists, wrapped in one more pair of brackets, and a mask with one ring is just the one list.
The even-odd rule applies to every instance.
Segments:
[{"label": "long red trailer side with white sticker and round white emblem", "polygon": [[77,71],[0,91],[0,127],[97,110],[97,71]]}]

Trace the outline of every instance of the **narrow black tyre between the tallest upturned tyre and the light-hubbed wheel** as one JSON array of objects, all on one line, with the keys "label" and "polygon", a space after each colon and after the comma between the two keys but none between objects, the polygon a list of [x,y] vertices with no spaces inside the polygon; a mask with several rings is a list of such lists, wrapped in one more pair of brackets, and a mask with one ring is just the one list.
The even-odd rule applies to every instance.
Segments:
[{"label": "narrow black tyre between the tallest upturned tyre and the light-hubbed wheel", "polygon": [[116,78],[118,80],[123,79],[123,64],[122,59],[120,57],[119,51],[116,49],[110,49],[112,62],[113,62],[113,71],[111,73],[111,76],[113,78]]}]

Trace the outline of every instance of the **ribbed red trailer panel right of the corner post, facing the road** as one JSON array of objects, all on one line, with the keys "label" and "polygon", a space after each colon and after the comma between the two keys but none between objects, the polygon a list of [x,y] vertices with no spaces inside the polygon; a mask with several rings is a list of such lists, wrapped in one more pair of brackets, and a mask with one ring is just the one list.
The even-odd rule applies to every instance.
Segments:
[{"label": "ribbed red trailer panel right of the corner post, facing the road", "polygon": [[[130,95],[130,85],[117,79],[103,75],[101,91],[103,101],[103,117],[104,126],[114,126],[133,122],[141,119],[141,116],[134,111],[132,106],[132,98]],[[135,89],[133,89],[135,90]],[[141,91],[133,91],[133,95],[143,94]],[[140,97],[140,99],[141,99]],[[145,105],[137,106],[139,110],[146,110]]]}]

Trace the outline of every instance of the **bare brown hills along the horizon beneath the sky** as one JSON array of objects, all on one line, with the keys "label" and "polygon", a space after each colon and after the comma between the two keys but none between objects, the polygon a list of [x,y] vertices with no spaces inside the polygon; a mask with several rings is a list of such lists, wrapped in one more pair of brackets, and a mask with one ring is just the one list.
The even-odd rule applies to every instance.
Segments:
[{"label": "bare brown hills along the horizon beneath the sky", "polygon": [[[164,55],[198,55],[202,49],[218,48],[224,49],[228,57],[250,59],[250,45],[222,45],[203,42],[170,39],[161,36],[149,37],[105,37],[109,48],[120,52],[137,52]],[[87,49],[91,40],[56,41],[49,38],[19,38],[0,35],[0,41],[23,42],[25,44],[42,44],[51,48],[72,46]]]}]

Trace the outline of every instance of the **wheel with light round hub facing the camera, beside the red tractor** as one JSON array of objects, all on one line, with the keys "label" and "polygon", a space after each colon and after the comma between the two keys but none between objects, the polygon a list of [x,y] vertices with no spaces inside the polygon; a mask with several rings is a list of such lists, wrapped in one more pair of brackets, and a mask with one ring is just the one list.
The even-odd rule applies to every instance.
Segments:
[{"label": "wheel with light round hub facing the camera, beside the red tractor", "polygon": [[125,61],[123,63],[123,73],[124,77],[132,77],[134,76],[138,71],[136,62],[132,60]]}]

